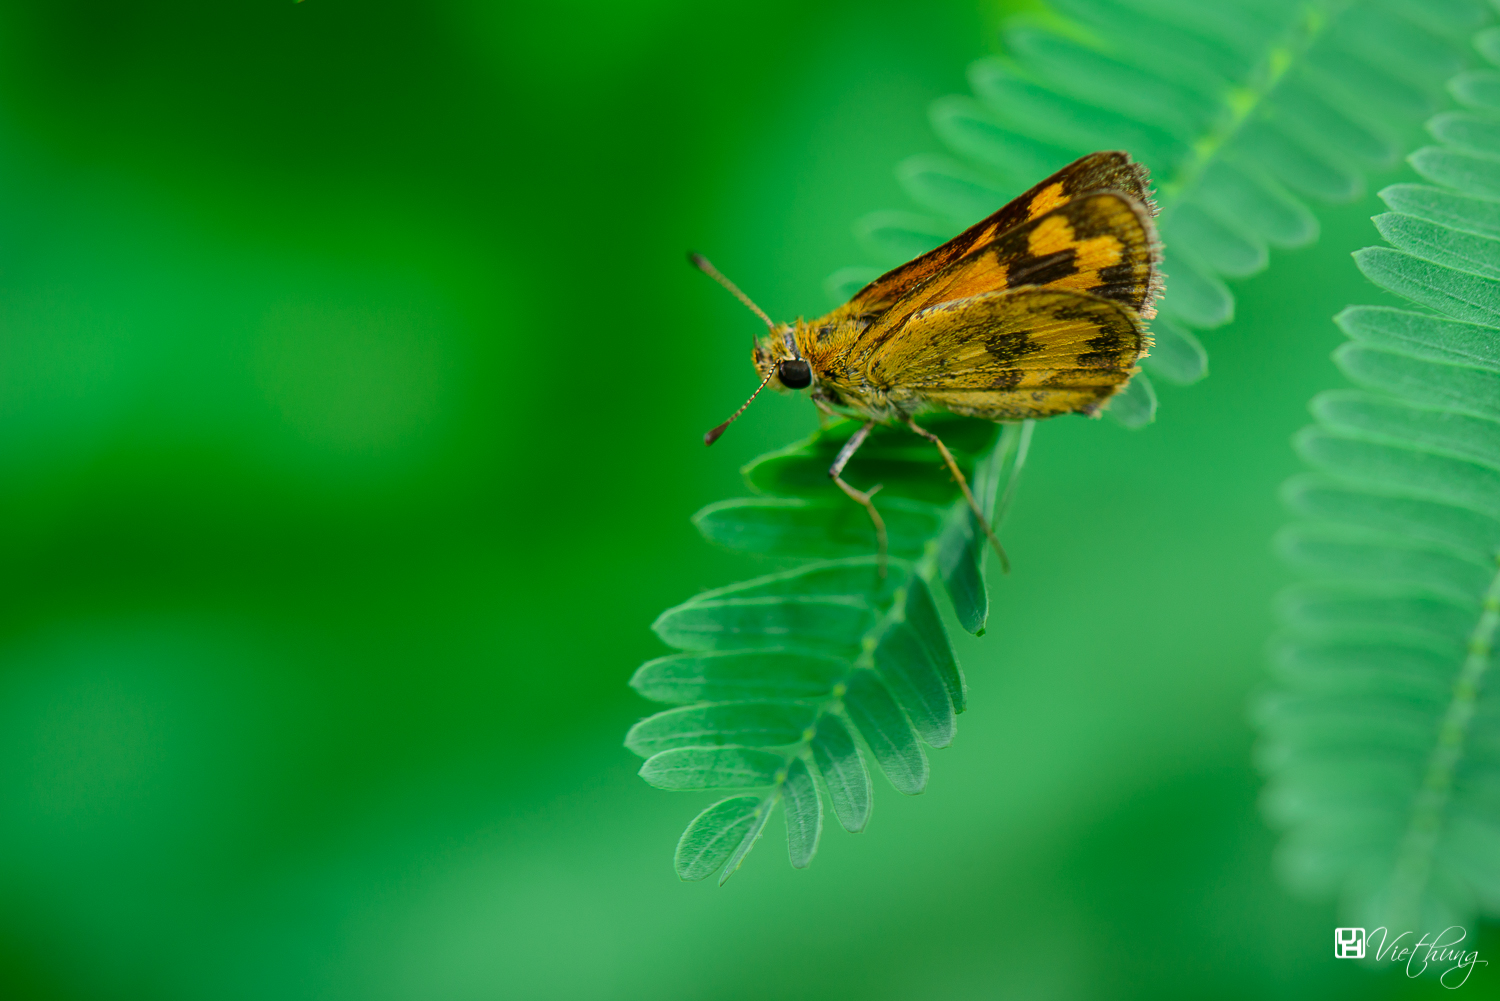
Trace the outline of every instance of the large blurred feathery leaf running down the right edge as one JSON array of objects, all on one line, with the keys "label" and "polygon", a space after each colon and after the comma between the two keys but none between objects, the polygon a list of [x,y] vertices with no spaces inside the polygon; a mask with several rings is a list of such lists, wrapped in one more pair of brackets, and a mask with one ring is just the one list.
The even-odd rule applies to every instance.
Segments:
[{"label": "large blurred feathery leaf running down the right edge", "polygon": [[[1476,48],[1500,60],[1496,32]],[[1500,107],[1497,81],[1450,90]],[[1314,398],[1296,438],[1316,471],[1284,491],[1304,521],[1278,548],[1310,579],[1281,596],[1257,708],[1284,875],[1392,933],[1500,915],[1500,128],[1428,128],[1410,162],[1431,183],[1383,191],[1389,246],[1354,255],[1420,309],[1338,317],[1358,389]]]}]

